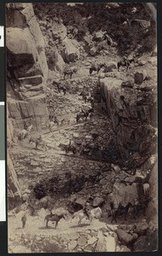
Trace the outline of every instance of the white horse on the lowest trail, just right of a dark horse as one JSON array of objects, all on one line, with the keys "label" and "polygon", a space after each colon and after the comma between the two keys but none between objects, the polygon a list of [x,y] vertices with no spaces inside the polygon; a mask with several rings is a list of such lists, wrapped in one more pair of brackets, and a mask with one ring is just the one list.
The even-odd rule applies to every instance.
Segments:
[{"label": "white horse on the lowest trail, just right of a dark horse", "polygon": [[78,218],[78,225],[81,225],[81,220],[87,217],[90,220],[90,224],[92,223],[93,218],[101,218],[102,217],[102,210],[100,207],[94,208],[88,211],[89,217],[85,214],[82,210],[79,212],[75,212],[73,218]]}]

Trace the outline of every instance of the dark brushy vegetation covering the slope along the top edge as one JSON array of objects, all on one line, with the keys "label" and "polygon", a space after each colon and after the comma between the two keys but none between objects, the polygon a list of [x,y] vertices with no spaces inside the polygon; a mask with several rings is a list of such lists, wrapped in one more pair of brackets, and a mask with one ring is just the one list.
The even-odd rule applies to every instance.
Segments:
[{"label": "dark brushy vegetation covering the slope along the top edge", "polygon": [[[39,20],[42,17],[58,17],[63,20],[68,32],[78,41],[83,41],[85,35],[102,30],[117,43],[120,55],[130,54],[142,44],[144,50],[152,50],[154,42],[148,43],[148,38],[154,37],[154,22],[146,30],[143,26],[123,26],[126,20],[150,20],[148,12],[143,8],[142,3],[118,3],[109,9],[108,3],[83,3],[73,7],[64,3],[35,3],[33,4],[35,14]],[[137,8],[135,14],[131,9]],[[42,14],[43,11],[43,14]]]}]

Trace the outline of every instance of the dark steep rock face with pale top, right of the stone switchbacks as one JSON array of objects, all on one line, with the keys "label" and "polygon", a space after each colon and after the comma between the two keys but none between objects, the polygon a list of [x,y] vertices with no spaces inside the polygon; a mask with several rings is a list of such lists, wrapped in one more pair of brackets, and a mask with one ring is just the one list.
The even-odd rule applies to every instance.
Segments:
[{"label": "dark steep rock face with pale top, right of the stone switchbacks", "polygon": [[[99,79],[101,101],[113,123],[122,159],[132,153],[137,166],[154,153],[156,102],[151,90],[124,89],[120,79]],[[152,147],[150,145],[152,144]]]}]

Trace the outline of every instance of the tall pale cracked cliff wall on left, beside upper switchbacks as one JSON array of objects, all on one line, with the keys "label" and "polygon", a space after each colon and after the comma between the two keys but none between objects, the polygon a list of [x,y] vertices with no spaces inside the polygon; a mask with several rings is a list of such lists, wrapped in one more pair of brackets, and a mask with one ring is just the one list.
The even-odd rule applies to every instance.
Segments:
[{"label": "tall pale cracked cliff wall on left, beside upper switchbacks", "polygon": [[9,118],[16,128],[22,129],[28,120],[40,130],[48,120],[44,95],[48,67],[45,42],[31,3],[8,3],[6,42]]}]

